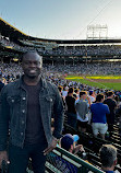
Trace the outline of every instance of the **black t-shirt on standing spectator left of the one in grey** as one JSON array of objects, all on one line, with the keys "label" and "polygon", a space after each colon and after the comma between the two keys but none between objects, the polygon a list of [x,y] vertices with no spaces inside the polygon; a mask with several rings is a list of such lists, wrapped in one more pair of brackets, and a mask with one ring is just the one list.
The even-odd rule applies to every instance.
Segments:
[{"label": "black t-shirt on standing spectator left of the one in grey", "polygon": [[68,107],[68,113],[76,114],[75,112],[75,99],[73,96],[66,96],[65,97],[65,104]]}]

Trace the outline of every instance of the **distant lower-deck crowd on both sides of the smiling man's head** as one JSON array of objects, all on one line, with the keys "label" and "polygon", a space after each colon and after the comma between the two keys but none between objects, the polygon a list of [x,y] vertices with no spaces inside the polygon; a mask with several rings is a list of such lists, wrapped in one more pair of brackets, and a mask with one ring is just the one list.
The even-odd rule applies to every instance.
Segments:
[{"label": "distant lower-deck crowd on both sides of the smiling man's head", "polygon": [[[80,74],[80,76],[92,76],[92,74],[120,74],[121,64],[80,64],[80,65],[47,65],[44,64],[44,73],[48,78],[64,76],[64,74]],[[0,73],[7,81],[13,81],[22,73],[22,68],[19,64],[0,64]],[[61,80],[63,82],[63,80]]]}]

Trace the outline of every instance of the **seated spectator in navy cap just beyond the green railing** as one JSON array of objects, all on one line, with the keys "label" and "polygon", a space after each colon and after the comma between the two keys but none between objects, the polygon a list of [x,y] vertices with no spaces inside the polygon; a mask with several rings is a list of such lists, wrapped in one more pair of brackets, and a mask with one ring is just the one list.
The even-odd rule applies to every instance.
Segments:
[{"label": "seated spectator in navy cap just beyond the green railing", "polygon": [[76,141],[78,140],[78,136],[77,135],[71,135],[71,134],[66,134],[61,138],[61,147],[71,152],[76,154],[78,151],[84,151],[84,148],[82,145],[77,145],[76,146]]}]

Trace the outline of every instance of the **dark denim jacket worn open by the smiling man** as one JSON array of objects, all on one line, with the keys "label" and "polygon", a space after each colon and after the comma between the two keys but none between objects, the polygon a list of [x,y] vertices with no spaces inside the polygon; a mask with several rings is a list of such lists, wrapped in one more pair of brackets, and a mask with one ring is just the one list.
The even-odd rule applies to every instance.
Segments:
[{"label": "dark denim jacket worn open by the smiling man", "polygon": [[[24,145],[27,92],[22,85],[22,78],[5,85],[0,94],[0,151],[7,149],[9,129],[10,142],[21,148]],[[52,137],[61,137],[63,106],[58,89],[44,79],[40,80],[39,104],[44,131],[49,145]],[[53,134],[51,132],[52,115],[55,117]]]}]

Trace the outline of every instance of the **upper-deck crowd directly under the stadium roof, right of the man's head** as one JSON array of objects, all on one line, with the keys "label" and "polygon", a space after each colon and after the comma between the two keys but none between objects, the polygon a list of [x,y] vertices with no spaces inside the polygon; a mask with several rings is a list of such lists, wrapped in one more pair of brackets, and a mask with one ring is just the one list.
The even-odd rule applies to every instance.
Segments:
[{"label": "upper-deck crowd directly under the stadium roof, right of the man's head", "polygon": [[57,56],[120,56],[121,47],[119,45],[84,45],[84,46],[66,46],[56,49],[48,49],[44,55]]}]

